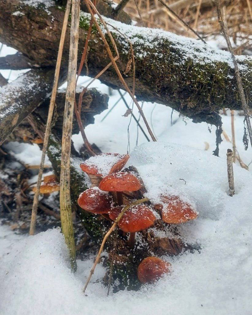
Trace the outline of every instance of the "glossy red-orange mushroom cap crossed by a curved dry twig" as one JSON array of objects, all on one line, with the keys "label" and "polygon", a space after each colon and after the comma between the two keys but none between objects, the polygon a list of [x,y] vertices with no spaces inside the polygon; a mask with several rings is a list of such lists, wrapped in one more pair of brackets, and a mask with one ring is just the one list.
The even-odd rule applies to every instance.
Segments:
[{"label": "glossy red-orange mushroom cap crossed by a curved dry twig", "polygon": [[[110,219],[115,221],[122,210],[123,207],[112,208],[109,212]],[[123,232],[134,233],[152,226],[155,220],[156,216],[151,209],[145,205],[136,205],[124,213],[118,226]]]}]

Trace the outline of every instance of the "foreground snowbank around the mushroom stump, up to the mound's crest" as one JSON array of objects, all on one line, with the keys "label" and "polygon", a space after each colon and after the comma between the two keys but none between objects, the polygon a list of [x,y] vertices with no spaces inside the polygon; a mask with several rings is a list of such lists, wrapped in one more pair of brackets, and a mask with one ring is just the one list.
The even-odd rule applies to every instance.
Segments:
[{"label": "foreground snowbank around the mushroom stump, up to the mound's crest", "polygon": [[[78,271],[72,274],[59,230],[22,237],[9,245],[9,255],[4,246],[2,314],[118,314],[119,309],[120,314],[150,315],[250,313],[252,199],[247,183],[251,173],[234,165],[236,194],[229,197],[226,160],[208,152],[148,143],[137,147],[128,163],[138,168],[151,198],[167,189],[195,201],[198,218],[178,228],[184,241],[200,245],[200,253],[164,256],[172,264],[170,275],[140,291],[125,290],[109,297],[101,282],[96,282],[105,273],[100,264],[83,296],[92,259],[78,261]],[[6,227],[1,230],[1,248],[6,238],[18,238]]]}]

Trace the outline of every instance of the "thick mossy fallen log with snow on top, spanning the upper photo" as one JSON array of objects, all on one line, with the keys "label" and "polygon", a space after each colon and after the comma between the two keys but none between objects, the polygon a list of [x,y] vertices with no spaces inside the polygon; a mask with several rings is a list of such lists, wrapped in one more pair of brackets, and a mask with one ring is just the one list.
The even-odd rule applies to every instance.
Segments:
[{"label": "thick mossy fallen log with snow on top, spanning the upper photo", "polygon": [[[19,50],[40,66],[53,66],[63,15],[62,8],[54,5],[52,0],[44,4],[42,0],[3,0],[0,3],[0,41]],[[89,20],[90,15],[82,12],[79,57]],[[228,52],[159,29],[126,25],[109,18],[105,18],[105,21],[110,24],[109,29],[117,44],[121,72],[125,72],[130,59],[128,40],[133,44],[135,94],[139,100],[171,106],[197,120],[205,120],[209,113],[222,107],[240,109],[234,67]],[[108,36],[107,39],[109,41]],[[83,68],[84,72],[88,69],[89,75],[95,76],[110,60],[94,26],[89,46],[87,64]],[[65,65],[68,49],[69,33],[63,54]],[[238,56],[237,61],[245,94],[251,106],[252,61],[245,56]],[[132,88],[133,69],[125,73],[124,77]],[[101,81],[112,87],[122,88],[112,67],[102,75]]]}]

